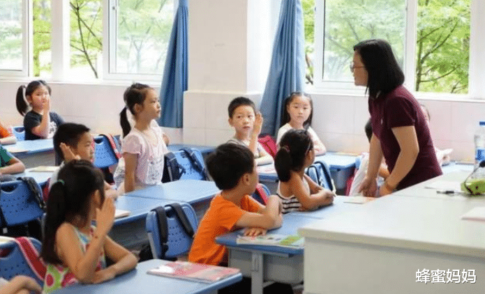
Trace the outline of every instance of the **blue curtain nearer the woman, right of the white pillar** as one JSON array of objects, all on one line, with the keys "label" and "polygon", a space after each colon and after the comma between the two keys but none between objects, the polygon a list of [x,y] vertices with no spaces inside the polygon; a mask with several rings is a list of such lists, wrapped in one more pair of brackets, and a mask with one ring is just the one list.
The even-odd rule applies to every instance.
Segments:
[{"label": "blue curtain nearer the woman, right of the white pillar", "polygon": [[281,124],[283,101],[302,91],[305,78],[305,37],[300,0],[281,1],[281,13],[274,39],[273,56],[260,111],[262,133],[276,135]]}]

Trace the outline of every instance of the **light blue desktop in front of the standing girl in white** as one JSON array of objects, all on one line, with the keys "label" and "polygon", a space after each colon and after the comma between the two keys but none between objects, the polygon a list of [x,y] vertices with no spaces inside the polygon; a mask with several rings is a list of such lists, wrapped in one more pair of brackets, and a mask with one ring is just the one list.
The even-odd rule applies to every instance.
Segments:
[{"label": "light blue desktop in front of the standing girl in white", "polygon": [[126,193],[126,196],[188,202],[194,208],[197,219],[202,219],[211,199],[221,190],[209,180],[175,180],[161,185]]}]

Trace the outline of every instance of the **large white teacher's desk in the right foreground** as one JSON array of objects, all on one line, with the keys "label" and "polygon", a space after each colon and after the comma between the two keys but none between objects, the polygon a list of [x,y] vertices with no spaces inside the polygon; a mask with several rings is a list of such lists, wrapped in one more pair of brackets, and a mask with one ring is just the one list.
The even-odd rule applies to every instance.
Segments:
[{"label": "large white teacher's desk in the right foreground", "polygon": [[[305,293],[482,293],[485,223],[461,219],[475,206],[483,203],[391,194],[304,226]],[[477,279],[416,282],[424,268],[475,270]]]}]

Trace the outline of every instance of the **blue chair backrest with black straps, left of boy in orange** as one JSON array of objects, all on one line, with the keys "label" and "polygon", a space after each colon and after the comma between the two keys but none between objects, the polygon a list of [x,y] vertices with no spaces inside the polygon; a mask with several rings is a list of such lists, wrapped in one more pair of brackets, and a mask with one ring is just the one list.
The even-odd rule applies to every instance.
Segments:
[{"label": "blue chair backrest with black straps, left of boy in orange", "polygon": [[[190,204],[181,203],[181,217],[179,217],[176,208],[174,208],[174,205],[177,204],[172,203],[161,207],[163,209],[158,210],[158,212],[156,210],[148,212],[146,229],[154,258],[177,258],[177,256],[187,254],[191,249],[193,232],[197,231],[198,226],[197,215]],[[161,214],[161,219],[159,219],[157,213]],[[166,225],[163,223],[163,215],[166,216]],[[190,227],[187,228],[189,232],[186,231],[184,216],[192,231],[190,231]],[[164,235],[166,242],[163,242]]]}]

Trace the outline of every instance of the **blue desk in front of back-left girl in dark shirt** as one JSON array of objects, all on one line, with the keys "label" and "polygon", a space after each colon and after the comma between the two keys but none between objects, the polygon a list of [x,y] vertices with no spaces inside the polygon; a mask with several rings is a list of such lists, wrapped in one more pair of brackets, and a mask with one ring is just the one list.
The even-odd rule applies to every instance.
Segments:
[{"label": "blue desk in front of back-left girl in dark shirt", "polygon": [[24,162],[25,167],[55,165],[54,144],[52,139],[17,141],[5,148]]}]

